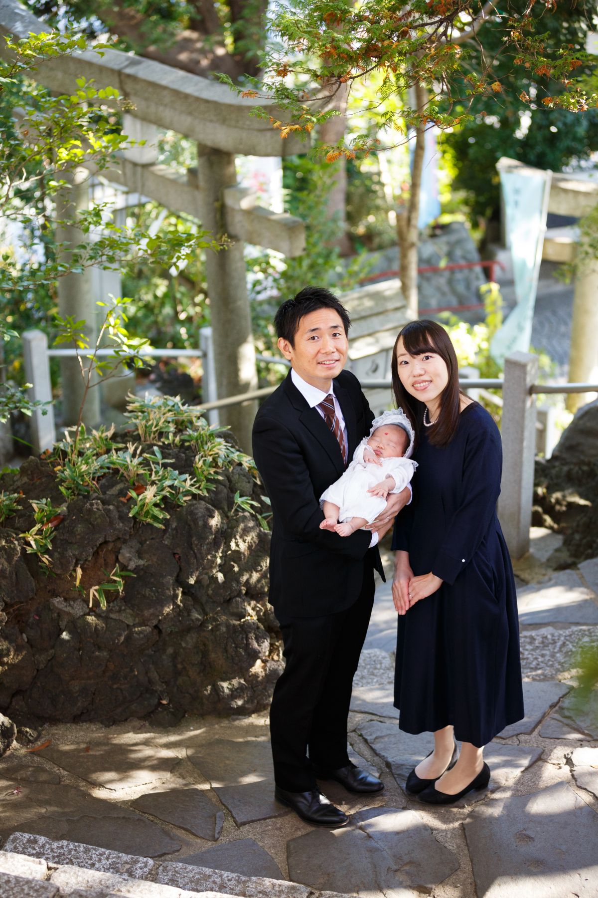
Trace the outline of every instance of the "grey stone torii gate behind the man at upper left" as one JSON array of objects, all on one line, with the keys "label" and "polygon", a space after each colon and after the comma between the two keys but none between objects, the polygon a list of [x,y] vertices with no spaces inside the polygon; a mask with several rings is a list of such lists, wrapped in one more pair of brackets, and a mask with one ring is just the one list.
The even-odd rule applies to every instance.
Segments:
[{"label": "grey stone torii gate behind the man at upper left", "polygon": [[[0,0],[0,34],[21,39],[31,31],[48,31],[48,26],[15,0]],[[305,249],[305,228],[298,218],[256,205],[256,197],[238,186],[235,155],[305,153],[307,145],[292,134],[281,140],[280,133],[267,122],[249,115],[258,101],[239,98],[225,84],[118,50],[108,49],[102,57],[88,51],[48,59],[34,73],[37,81],[59,93],[74,92],[75,80],[81,76],[93,79],[97,89],[117,88],[134,109],[134,118],[125,117],[124,131],[134,139],[146,140],[145,146],[122,154],[102,175],[174,212],[194,216],[206,230],[217,236],[228,234],[233,241],[228,250],[206,251],[216,383],[220,397],[256,389],[243,243],[297,256]],[[276,119],[282,118],[274,107],[271,111]],[[158,128],[197,142],[196,170],[181,172],[156,164]],[[75,207],[87,202],[86,182],[76,172],[68,199]],[[63,234],[62,239],[81,242],[81,235]],[[61,278],[59,301],[61,314],[75,314],[91,322],[96,309],[89,275]],[[66,418],[76,418],[74,409],[78,409],[81,395],[74,365],[74,360],[63,360]],[[95,393],[91,391],[90,396],[97,403]],[[253,401],[227,410],[227,423],[245,449],[250,446],[255,412]],[[91,405],[88,418],[97,420],[98,416],[99,405],[96,409]]]}]

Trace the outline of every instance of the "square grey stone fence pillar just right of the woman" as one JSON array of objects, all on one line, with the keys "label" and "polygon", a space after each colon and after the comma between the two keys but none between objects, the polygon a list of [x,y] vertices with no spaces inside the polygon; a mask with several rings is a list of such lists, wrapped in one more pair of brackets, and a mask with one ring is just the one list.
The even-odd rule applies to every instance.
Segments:
[{"label": "square grey stone fence pillar just right of the woman", "polygon": [[505,359],[503,387],[503,466],[498,516],[508,550],[519,559],[530,548],[536,404],[530,387],[538,376],[538,359],[514,352]]}]

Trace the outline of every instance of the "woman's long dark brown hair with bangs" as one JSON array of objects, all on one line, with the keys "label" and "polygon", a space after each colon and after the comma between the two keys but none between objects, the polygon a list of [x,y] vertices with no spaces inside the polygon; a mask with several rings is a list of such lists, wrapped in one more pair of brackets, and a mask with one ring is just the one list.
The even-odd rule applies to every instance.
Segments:
[{"label": "woman's long dark brown hair with bangs", "polygon": [[459,371],[455,347],[446,330],[436,321],[423,319],[422,321],[410,321],[405,324],[394,342],[391,370],[393,374],[393,392],[397,408],[402,408],[411,420],[415,431],[416,440],[420,435],[425,403],[416,399],[407,392],[399,377],[399,367],[396,361],[396,348],[399,340],[403,339],[403,347],[410,356],[423,356],[427,352],[433,352],[445,362],[448,371],[448,383],[440,397],[440,410],[434,427],[429,430],[429,442],[435,446],[446,446],[455,436],[459,423]]}]

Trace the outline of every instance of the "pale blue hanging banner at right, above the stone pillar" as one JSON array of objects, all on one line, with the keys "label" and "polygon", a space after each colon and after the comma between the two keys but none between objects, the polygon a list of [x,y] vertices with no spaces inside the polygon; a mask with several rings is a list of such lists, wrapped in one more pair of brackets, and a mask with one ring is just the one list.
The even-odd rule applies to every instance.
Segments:
[{"label": "pale blue hanging banner at right, above the stone pillar", "polygon": [[498,160],[497,168],[516,295],[515,308],[490,342],[492,357],[502,365],[511,352],[529,352],[552,172],[505,157]]}]

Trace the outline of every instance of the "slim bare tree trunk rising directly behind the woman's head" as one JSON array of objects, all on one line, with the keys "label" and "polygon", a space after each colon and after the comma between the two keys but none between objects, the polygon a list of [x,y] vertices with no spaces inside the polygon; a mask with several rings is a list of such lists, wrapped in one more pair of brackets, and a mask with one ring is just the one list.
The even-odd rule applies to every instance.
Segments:
[{"label": "slim bare tree trunk rising directly behind the woman's head", "polygon": [[[427,102],[428,91],[423,84],[416,84],[415,104],[417,110],[423,110]],[[407,304],[407,312],[413,319],[418,317],[418,244],[420,242],[418,219],[420,217],[420,190],[425,141],[426,126],[420,124],[415,129],[415,151],[409,201],[403,211],[399,210],[396,216],[396,233],[401,253],[403,296]]]}]

